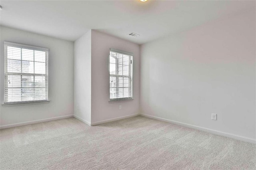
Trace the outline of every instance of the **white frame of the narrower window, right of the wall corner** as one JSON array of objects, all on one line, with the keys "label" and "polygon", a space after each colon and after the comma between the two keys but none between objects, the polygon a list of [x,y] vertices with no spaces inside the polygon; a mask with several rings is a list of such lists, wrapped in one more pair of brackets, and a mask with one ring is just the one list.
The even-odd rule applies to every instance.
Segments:
[{"label": "white frame of the narrower window, right of the wall corner", "polygon": [[[116,53],[121,53],[121,54],[124,54],[124,55],[129,55],[130,56],[130,69],[129,69],[129,75],[112,75],[110,74],[110,52],[116,52]],[[118,50],[118,49],[114,49],[114,48],[110,48],[110,51],[109,51],[109,57],[108,57],[108,73],[109,73],[109,76],[108,76],[108,93],[109,93],[109,101],[124,101],[124,100],[132,100],[134,99],[133,98],[133,53],[129,53],[129,52],[126,52],[126,51],[121,51],[121,50]],[[132,62],[132,63],[131,63]],[[115,98],[115,99],[110,99],[110,77],[130,77],[130,85],[131,85],[131,97],[126,97],[126,98]]]}]

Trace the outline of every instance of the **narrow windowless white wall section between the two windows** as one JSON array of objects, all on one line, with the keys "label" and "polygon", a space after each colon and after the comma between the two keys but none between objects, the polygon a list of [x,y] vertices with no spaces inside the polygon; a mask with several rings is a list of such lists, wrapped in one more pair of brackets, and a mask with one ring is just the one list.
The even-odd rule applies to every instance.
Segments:
[{"label": "narrow windowless white wall section between the two windows", "polygon": [[91,30],[74,43],[74,115],[91,123]]}]

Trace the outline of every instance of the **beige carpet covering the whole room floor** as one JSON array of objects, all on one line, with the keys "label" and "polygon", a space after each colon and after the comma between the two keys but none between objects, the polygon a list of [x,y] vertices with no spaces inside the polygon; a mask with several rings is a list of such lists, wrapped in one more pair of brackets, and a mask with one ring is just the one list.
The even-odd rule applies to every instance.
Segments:
[{"label": "beige carpet covering the whole room floor", "polygon": [[132,117],[89,127],[75,118],[1,130],[0,169],[256,169],[256,146]]}]

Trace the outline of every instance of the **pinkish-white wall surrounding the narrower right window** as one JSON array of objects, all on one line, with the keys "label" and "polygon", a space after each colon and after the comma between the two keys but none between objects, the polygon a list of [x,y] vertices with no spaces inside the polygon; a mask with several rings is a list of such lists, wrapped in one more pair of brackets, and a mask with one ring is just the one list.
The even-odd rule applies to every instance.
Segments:
[{"label": "pinkish-white wall surrounding the narrower right window", "polygon": [[[133,100],[109,102],[110,48],[134,53]],[[138,44],[92,30],[92,123],[139,113],[140,47]],[[122,105],[122,110],[119,110]]]}]

